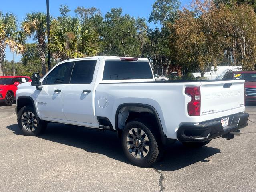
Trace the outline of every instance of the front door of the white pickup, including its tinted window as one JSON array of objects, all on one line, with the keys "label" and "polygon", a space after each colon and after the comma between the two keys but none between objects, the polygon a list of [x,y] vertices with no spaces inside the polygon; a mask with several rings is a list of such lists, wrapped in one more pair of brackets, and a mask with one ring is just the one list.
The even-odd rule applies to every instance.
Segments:
[{"label": "front door of the white pickup, including its tinted window", "polygon": [[36,105],[44,118],[66,120],[62,111],[62,94],[69,81],[71,62],[55,67],[43,80],[42,90],[37,90]]}]

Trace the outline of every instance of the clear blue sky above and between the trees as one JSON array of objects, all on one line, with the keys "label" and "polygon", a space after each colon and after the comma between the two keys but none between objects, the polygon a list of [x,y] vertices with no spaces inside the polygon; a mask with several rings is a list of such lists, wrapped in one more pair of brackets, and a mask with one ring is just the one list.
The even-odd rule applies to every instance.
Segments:
[{"label": "clear blue sky above and between the trees", "polygon": [[[74,10],[78,6],[96,7],[101,10],[103,16],[111,8],[121,7],[123,14],[130,14],[134,17],[148,18],[152,4],[155,0],[49,0],[50,15],[53,17],[60,16],[60,5],[67,5],[71,12],[70,15],[75,15]],[[181,0],[181,7],[189,5],[191,0]],[[0,10],[3,12],[12,12],[16,14],[18,22],[22,21],[28,12],[46,12],[46,0],[1,0]],[[151,24],[153,26],[153,24]],[[28,40],[32,42],[32,40]],[[18,62],[21,56],[14,54],[14,61]],[[6,48],[6,59],[12,60],[13,53],[9,48]]]}]

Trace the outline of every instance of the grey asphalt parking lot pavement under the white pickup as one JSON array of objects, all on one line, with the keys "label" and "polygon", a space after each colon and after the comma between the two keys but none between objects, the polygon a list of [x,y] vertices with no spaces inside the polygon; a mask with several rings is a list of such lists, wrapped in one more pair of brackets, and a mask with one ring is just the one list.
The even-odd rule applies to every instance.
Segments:
[{"label": "grey asphalt parking lot pavement under the white pickup", "polygon": [[240,136],[200,149],[176,142],[152,168],[131,165],[113,132],[49,124],[23,136],[14,106],[0,106],[0,191],[256,190],[256,105]]}]

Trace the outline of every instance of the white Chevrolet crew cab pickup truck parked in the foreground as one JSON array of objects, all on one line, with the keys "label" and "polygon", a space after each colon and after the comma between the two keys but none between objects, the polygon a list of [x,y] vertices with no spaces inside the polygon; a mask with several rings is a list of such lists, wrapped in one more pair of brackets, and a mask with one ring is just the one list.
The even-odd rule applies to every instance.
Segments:
[{"label": "white Chevrolet crew cab pickup truck parked in the foreground", "polygon": [[18,126],[36,136],[48,122],[111,130],[125,156],[148,167],[163,146],[200,147],[248,125],[244,80],[155,81],[148,59],[88,57],[54,66],[16,92]]}]

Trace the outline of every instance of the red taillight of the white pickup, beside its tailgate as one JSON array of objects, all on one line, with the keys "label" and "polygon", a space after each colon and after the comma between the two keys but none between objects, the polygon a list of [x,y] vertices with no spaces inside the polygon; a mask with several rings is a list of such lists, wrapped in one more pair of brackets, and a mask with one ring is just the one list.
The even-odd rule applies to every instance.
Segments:
[{"label": "red taillight of the white pickup, beside its tailgate", "polygon": [[191,96],[191,101],[187,104],[187,113],[190,116],[200,116],[200,87],[186,87],[185,94]]}]

